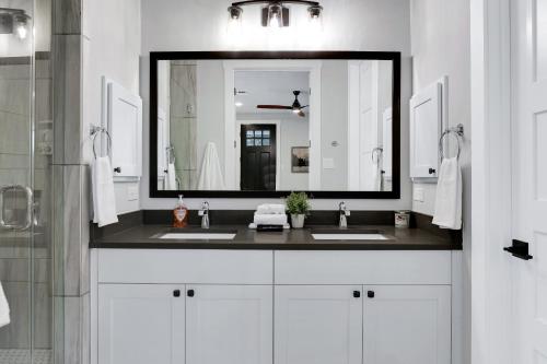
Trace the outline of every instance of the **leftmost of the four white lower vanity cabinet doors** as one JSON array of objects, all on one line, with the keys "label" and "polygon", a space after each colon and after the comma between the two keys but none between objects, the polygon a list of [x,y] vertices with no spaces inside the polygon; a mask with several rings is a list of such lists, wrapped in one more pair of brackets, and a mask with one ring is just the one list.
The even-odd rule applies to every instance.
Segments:
[{"label": "leftmost of the four white lower vanity cabinet doors", "polygon": [[101,284],[98,363],[184,363],[184,285]]}]

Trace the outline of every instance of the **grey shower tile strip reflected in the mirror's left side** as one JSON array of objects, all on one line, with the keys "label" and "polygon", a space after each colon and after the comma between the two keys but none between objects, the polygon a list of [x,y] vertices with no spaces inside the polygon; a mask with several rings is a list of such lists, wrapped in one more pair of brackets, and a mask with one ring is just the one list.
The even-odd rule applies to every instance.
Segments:
[{"label": "grey shower tile strip reflected in the mirror's left side", "polygon": [[175,148],[175,169],[181,189],[197,183],[197,82],[194,61],[171,61],[170,138]]}]

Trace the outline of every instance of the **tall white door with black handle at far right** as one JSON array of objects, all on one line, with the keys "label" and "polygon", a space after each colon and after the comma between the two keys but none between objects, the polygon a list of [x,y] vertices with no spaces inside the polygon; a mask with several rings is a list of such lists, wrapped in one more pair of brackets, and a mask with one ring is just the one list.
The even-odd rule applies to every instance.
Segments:
[{"label": "tall white door with black handle at far right", "polygon": [[547,363],[547,1],[513,0],[513,363]]}]

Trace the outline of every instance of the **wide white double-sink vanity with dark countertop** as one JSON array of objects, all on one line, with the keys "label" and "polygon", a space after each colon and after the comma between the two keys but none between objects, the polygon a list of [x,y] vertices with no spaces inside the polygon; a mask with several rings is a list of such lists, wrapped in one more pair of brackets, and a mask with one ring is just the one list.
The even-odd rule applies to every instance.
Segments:
[{"label": "wide white double-sink vanity with dark countertop", "polygon": [[[202,240],[140,225],[97,238],[93,363],[451,363],[461,243],[393,226],[312,236],[333,230],[222,226],[209,233],[233,239]],[[342,236],[357,232],[386,238]]]}]

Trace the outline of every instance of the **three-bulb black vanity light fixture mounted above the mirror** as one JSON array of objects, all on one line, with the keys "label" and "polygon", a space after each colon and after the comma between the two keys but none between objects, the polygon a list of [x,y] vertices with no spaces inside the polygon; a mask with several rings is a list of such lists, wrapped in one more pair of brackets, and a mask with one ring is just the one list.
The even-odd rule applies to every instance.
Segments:
[{"label": "three-bulb black vanity light fixture mounted above the mirror", "polygon": [[306,0],[287,0],[287,1],[264,1],[264,0],[247,0],[233,2],[229,12],[229,21],[232,25],[241,24],[243,14],[242,7],[261,4],[261,24],[270,27],[286,27],[290,25],[290,10],[286,4],[306,5],[307,15],[311,22],[321,23],[323,7],[317,1]]}]

